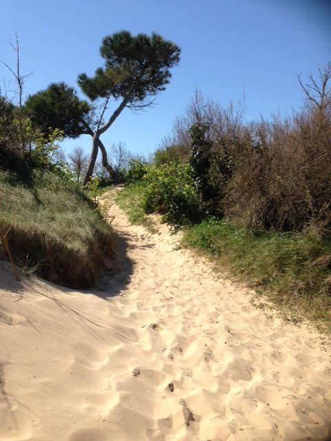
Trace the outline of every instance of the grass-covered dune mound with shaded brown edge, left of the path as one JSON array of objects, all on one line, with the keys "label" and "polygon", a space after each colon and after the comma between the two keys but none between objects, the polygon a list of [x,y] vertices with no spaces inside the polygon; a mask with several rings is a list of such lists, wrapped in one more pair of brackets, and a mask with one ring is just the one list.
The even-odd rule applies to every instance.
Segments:
[{"label": "grass-covered dune mound with shaded brown edge, left of the path", "polygon": [[0,228],[19,267],[68,287],[92,285],[112,255],[111,228],[95,205],[52,172],[25,181],[0,172]]}]

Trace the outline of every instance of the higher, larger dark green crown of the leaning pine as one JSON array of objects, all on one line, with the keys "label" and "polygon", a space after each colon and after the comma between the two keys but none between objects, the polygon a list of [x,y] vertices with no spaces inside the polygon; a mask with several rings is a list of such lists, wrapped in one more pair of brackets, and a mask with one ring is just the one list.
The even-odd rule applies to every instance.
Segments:
[{"label": "higher, larger dark green crown of the leaning pine", "polygon": [[102,40],[100,54],[104,67],[92,77],[79,75],[83,93],[92,101],[106,96],[130,96],[128,103],[137,103],[165,89],[170,68],[179,62],[180,49],[159,34],[134,37],[121,31]]}]

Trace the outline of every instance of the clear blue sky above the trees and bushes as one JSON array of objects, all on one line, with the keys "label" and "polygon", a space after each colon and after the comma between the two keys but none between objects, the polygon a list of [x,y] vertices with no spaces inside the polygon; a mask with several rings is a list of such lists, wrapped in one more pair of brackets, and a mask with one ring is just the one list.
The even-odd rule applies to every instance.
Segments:
[{"label": "clear blue sky above the trees and bushes", "polygon": [[[297,74],[331,59],[328,0],[1,0],[0,17],[0,59],[14,64],[6,40],[17,31],[21,69],[34,71],[26,94],[92,74],[101,65],[101,39],[118,30],[155,31],[180,45],[181,63],[157,105],[141,114],[124,110],[103,135],[106,145],[123,141],[137,154],[157,147],[194,88],[221,103],[245,90],[248,120],[290,112],[301,105]],[[0,76],[10,78],[3,65]],[[88,152],[90,138],[64,145]]]}]

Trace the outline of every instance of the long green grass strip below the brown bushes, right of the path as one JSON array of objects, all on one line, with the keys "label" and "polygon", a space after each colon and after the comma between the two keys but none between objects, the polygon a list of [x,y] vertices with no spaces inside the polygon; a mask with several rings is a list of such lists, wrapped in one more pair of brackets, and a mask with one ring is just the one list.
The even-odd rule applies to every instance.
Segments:
[{"label": "long green grass strip below the brown bushes, right of the path", "polygon": [[330,334],[330,240],[304,233],[253,231],[229,220],[205,220],[185,229],[183,243],[254,287],[288,318],[311,320]]}]

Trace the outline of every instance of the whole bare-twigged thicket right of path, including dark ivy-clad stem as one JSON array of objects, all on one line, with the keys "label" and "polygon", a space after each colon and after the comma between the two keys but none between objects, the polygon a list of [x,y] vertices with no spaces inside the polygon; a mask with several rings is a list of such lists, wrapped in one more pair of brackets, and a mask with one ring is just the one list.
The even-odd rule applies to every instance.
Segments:
[{"label": "whole bare-twigged thicket right of path, including dark ivy-clad stem", "polygon": [[330,80],[331,64],[319,80],[310,76],[299,112],[249,124],[242,102],[222,107],[196,92],[154,163],[167,163],[172,152],[177,163],[190,163],[205,214],[278,232],[330,234]]}]

